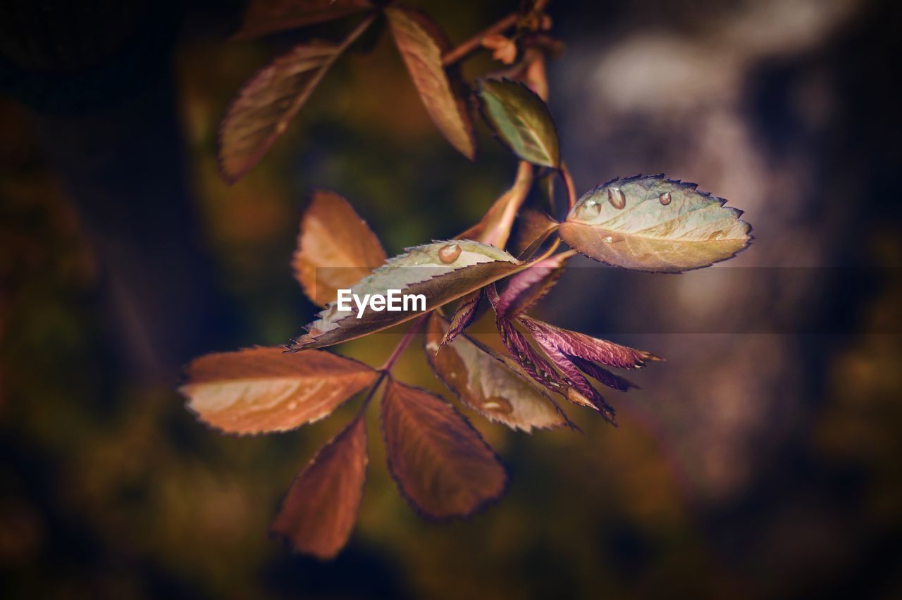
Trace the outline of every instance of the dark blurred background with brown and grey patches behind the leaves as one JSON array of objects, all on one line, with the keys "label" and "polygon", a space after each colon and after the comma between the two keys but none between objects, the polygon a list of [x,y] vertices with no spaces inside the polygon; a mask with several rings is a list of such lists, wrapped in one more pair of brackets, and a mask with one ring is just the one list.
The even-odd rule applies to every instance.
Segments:
[{"label": "dark blurred background with brown and grey patches behind the leaves", "polygon": [[[453,41],[516,5],[415,4]],[[553,2],[566,51],[549,104],[577,191],[664,171],[746,210],[757,240],[676,277],[575,260],[538,314],[667,357],[611,398],[621,427],[474,419],[511,486],[428,523],[394,490],[371,414],[360,523],[327,563],[266,530],[354,404],[221,436],[184,409],[180,367],[308,322],[290,253],[309,186],[348,197],[394,254],[474,223],[516,161],[484,128],[476,163],[451,150],[381,30],[226,186],[231,95],[349,24],[227,41],[241,11],[0,12],[0,595],[902,596],[896,3]],[[342,351],[378,364],[397,337]],[[440,389],[415,350],[399,374]]]}]

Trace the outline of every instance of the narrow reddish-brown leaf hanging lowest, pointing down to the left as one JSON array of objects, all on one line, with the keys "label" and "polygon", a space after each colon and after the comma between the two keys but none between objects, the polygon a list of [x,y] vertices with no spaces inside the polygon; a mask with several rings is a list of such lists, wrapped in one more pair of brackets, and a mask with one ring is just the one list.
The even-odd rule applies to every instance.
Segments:
[{"label": "narrow reddish-brown leaf hanging lowest, pointing down to the left", "polygon": [[331,559],[354,531],[366,478],[366,422],[354,419],[294,478],[272,532],[298,552]]}]

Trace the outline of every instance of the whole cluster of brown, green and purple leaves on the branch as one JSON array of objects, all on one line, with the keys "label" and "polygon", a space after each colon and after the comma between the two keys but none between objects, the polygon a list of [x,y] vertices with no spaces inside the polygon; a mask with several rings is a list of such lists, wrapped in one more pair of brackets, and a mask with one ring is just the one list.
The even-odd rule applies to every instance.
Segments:
[{"label": "whole cluster of brown, green and purple leaves on the branch", "polygon": [[[281,5],[280,19],[267,20],[261,4],[252,3],[243,36],[377,10],[366,2],[288,2]],[[517,19],[532,18],[535,28],[545,31],[540,7],[537,3]],[[456,50],[447,50],[425,15],[394,5],[378,10],[387,17],[437,128],[472,156],[472,127],[446,64],[448,52]],[[244,145],[224,144],[235,160],[227,174],[238,176],[259,159],[261,148],[284,129],[278,123],[297,113],[325,69],[371,20],[372,15],[365,17],[337,46],[291,50],[273,62],[268,75],[245,88],[230,113],[235,119],[224,125],[224,141],[226,131],[246,133]],[[507,48],[497,38],[481,47]],[[505,50],[496,58],[508,62],[510,54]],[[420,332],[438,379],[460,405],[492,423],[524,432],[576,429],[562,406],[569,403],[615,424],[616,411],[596,385],[626,392],[636,386],[615,369],[642,368],[658,357],[545,323],[530,309],[548,295],[577,252],[615,267],[678,273],[729,259],[750,243],[750,226],[740,220],[740,211],[724,207],[723,199],[695,184],[663,175],[612,179],[577,201],[542,97],[547,94],[544,55],[532,53],[524,60],[508,73],[516,79],[488,78],[476,86],[486,122],[520,158],[511,188],[479,223],[453,240],[425,243],[387,259],[376,235],[344,197],[314,190],[301,218],[293,265],[304,292],[323,310],[283,349],[210,354],[186,369],[179,391],[189,408],[204,423],[235,434],[284,432],[314,423],[365,390],[357,414],[296,477],[272,524],[295,550],[329,558],[351,535],[368,462],[364,414],[379,390],[388,467],[401,495],[421,514],[463,517],[502,494],[504,469],[465,416],[439,395],[392,375],[394,362]],[[242,98],[250,104],[242,104]],[[283,101],[286,108],[276,110]],[[561,222],[525,205],[538,186],[548,195],[550,214],[565,212],[557,210],[565,207],[556,206],[556,179],[566,189]],[[515,223],[517,235],[511,239]],[[562,242],[570,249],[558,251]],[[427,305],[425,310],[366,310],[357,318],[340,309],[339,288],[361,296],[400,289],[425,295]],[[506,352],[466,333],[490,309],[497,345]],[[323,350],[411,321],[380,368]]]}]

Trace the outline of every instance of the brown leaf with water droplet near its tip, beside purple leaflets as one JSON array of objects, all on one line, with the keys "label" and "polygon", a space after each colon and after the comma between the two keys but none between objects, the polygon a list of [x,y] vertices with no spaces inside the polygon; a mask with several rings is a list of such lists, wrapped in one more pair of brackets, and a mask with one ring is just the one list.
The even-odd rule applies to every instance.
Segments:
[{"label": "brown leaf with water droplet near its tip, beside purple leaflets", "polygon": [[492,422],[531,432],[566,425],[566,416],[545,391],[511,359],[466,335],[439,350],[448,323],[429,317],[424,350],[432,370],[457,398]]}]

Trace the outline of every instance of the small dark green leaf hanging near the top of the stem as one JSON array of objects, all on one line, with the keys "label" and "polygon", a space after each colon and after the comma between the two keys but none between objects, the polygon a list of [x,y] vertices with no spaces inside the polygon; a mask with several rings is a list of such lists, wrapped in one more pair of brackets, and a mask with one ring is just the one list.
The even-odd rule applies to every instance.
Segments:
[{"label": "small dark green leaf hanging near the top of the stem", "polygon": [[557,168],[560,150],[548,106],[529,87],[510,79],[479,81],[483,116],[520,159]]}]

